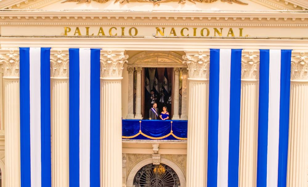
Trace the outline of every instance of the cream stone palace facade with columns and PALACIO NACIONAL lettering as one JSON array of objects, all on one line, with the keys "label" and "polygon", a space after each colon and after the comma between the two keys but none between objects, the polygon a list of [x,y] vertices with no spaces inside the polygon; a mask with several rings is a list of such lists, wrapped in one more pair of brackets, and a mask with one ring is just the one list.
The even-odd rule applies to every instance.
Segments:
[{"label": "cream stone palace facade with columns and PALACIO NACIONAL lettering", "polygon": [[[51,47],[52,187],[69,186],[69,48],[100,48],[101,69],[114,70],[101,73],[101,136],[112,137],[100,142],[102,187],[136,186],[154,162],[176,173],[174,186],[206,186],[210,49],[243,49],[238,186],[257,186],[259,49],[292,49],[286,185],[308,187],[306,1],[2,0],[0,8],[2,186],[21,186],[19,47]],[[145,119],[146,68],[152,87],[155,68],[168,68],[170,114],[188,120],[186,139],[120,138],[122,119]]]}]

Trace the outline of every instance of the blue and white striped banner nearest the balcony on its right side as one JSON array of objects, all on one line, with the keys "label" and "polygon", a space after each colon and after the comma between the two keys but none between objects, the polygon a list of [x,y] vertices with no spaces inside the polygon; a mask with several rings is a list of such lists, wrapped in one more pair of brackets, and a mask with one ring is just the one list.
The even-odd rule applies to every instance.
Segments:
[{"label": "blue and white striped banner nearest the balcony on its right side", "polygon": [[210,49],[208,187],[238,187],[241,49]]}]

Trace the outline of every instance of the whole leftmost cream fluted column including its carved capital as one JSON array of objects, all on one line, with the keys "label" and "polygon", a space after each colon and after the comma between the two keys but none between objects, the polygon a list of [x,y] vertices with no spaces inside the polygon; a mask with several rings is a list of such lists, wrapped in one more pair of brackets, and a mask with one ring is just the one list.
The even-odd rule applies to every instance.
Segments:
[{"label": "whole leftmost cream fluted column including its carved capital", "polygon": [[20,187],[19,54],[0,55],[4,69],[4,129],[6,187]]}]

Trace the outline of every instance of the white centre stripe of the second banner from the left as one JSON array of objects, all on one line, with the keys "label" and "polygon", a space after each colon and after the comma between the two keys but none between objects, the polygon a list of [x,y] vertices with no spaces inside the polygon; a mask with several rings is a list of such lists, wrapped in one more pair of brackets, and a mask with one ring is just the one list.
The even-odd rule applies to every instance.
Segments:
[{"label": "white centre stripe of the second banner from the left", "polygon": [[90,187],[91,50],[79,49],[79,182]]}]

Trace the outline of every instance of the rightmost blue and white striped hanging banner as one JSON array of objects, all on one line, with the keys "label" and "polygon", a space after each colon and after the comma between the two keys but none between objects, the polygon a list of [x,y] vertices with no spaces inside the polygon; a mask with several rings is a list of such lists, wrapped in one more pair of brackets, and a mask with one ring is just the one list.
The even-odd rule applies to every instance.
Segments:
[{"label": "rightmost blue and white striped hanging banner", "polygon": [[260,50],[257,187],[285,187],[291,50]]}]

